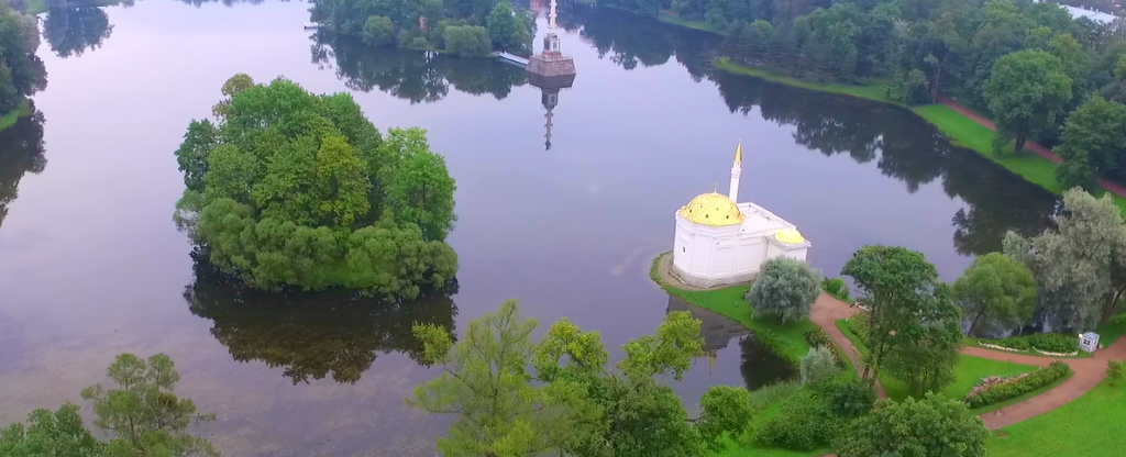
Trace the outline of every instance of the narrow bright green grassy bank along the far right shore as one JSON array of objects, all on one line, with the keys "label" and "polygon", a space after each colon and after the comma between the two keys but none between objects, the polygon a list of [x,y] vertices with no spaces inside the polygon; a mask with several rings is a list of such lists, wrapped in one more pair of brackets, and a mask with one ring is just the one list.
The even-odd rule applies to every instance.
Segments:
[{"label": "narrow bright green grassy bank along the far right shore", "polygon": [[[1064,187],[1055,179],[1055,163],[1031,152],[1026,152],[1021,155],[1013,155],[1011,153],[999,154],[994,152],[992,146],[993,131],[945,105],[905,106],[888,99],[886,86],[876,81],[861,84],[810,81],[771,73],[758,68],[739,65],[725,57],[717,59],[715,66],[727,72],[747,74],[779,84],[902,106],[937,127],[939,132],[942,132],[949,138],[950,143],[973,150],[1025,180],[1043,187],[1053,194],[1060,195],[1064,190]],[[1115,205],[1123,213],[1126,213],[1126,198],[1114,194],[1111,194],[1111,198],[1114,198]]]}]

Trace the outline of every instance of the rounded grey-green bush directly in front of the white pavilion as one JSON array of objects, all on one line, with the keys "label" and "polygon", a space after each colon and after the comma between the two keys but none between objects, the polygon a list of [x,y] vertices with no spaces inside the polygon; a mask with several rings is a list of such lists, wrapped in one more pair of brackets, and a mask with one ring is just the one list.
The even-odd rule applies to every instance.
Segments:
[{"label": "rounded grey-green bush directly in front of the white pavilion", "polygon": [[801,260],[778,257],[762,263],[751,283],[747,301],[756,317],[777,316],[783,322],[810,315],[821,293],[821,274]]}]

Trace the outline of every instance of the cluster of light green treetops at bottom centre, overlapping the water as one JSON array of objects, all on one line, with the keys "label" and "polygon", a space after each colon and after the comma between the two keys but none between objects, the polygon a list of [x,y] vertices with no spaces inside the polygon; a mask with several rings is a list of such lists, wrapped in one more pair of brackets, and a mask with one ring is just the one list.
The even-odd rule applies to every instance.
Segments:
[{"label": "cluster of light green treetops at bottom centre, overlapping the water", "polygon": [[606,367],[598,333],[561,320],[533,342],[535,329],[515,302],[472,321],[456,344],[448,331],[415,325],[426,360],[443,374],[408,403],[457,415],[438,441],[444,455],[701,455],[747,424],[751,403],[743,388],[709,389],[703,415],[689,421],[676,393],[654,380],[679,378],[703,349],[699,321],[687,312],[669,313],[654,334],[626,343],[616,373]]}]

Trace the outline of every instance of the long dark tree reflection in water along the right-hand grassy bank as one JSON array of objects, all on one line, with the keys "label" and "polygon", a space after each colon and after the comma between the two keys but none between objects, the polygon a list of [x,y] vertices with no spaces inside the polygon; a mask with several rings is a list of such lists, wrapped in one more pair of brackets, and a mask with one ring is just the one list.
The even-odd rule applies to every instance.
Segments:
[{"label": "long dark tree reflection in water along the right-hand grassy bank", "polygon": [[1052,224],[1058,197],[977,153],[951,145],[910,111],[850,97],[801,90],[722,71],[709,77],[732,113],[760,115],[795,126],[794,141],[825,155],[875,161],[908,192],[941,179],[946,195],[969,208],[953,216],[954,247],[962,254],[1001,249],[1008,231],[1036,234]]}]

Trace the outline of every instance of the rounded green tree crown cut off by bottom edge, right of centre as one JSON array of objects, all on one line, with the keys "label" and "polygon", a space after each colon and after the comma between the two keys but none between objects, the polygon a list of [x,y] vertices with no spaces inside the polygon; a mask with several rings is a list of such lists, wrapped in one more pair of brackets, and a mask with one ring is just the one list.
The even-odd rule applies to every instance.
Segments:
[{"label": "rounded green tree crown cut off by bottom edge, right of centre", "polygon": [[985,457],[989,430],[962,402],[938,394],[882,400],[833,442],[839,457]]}]

